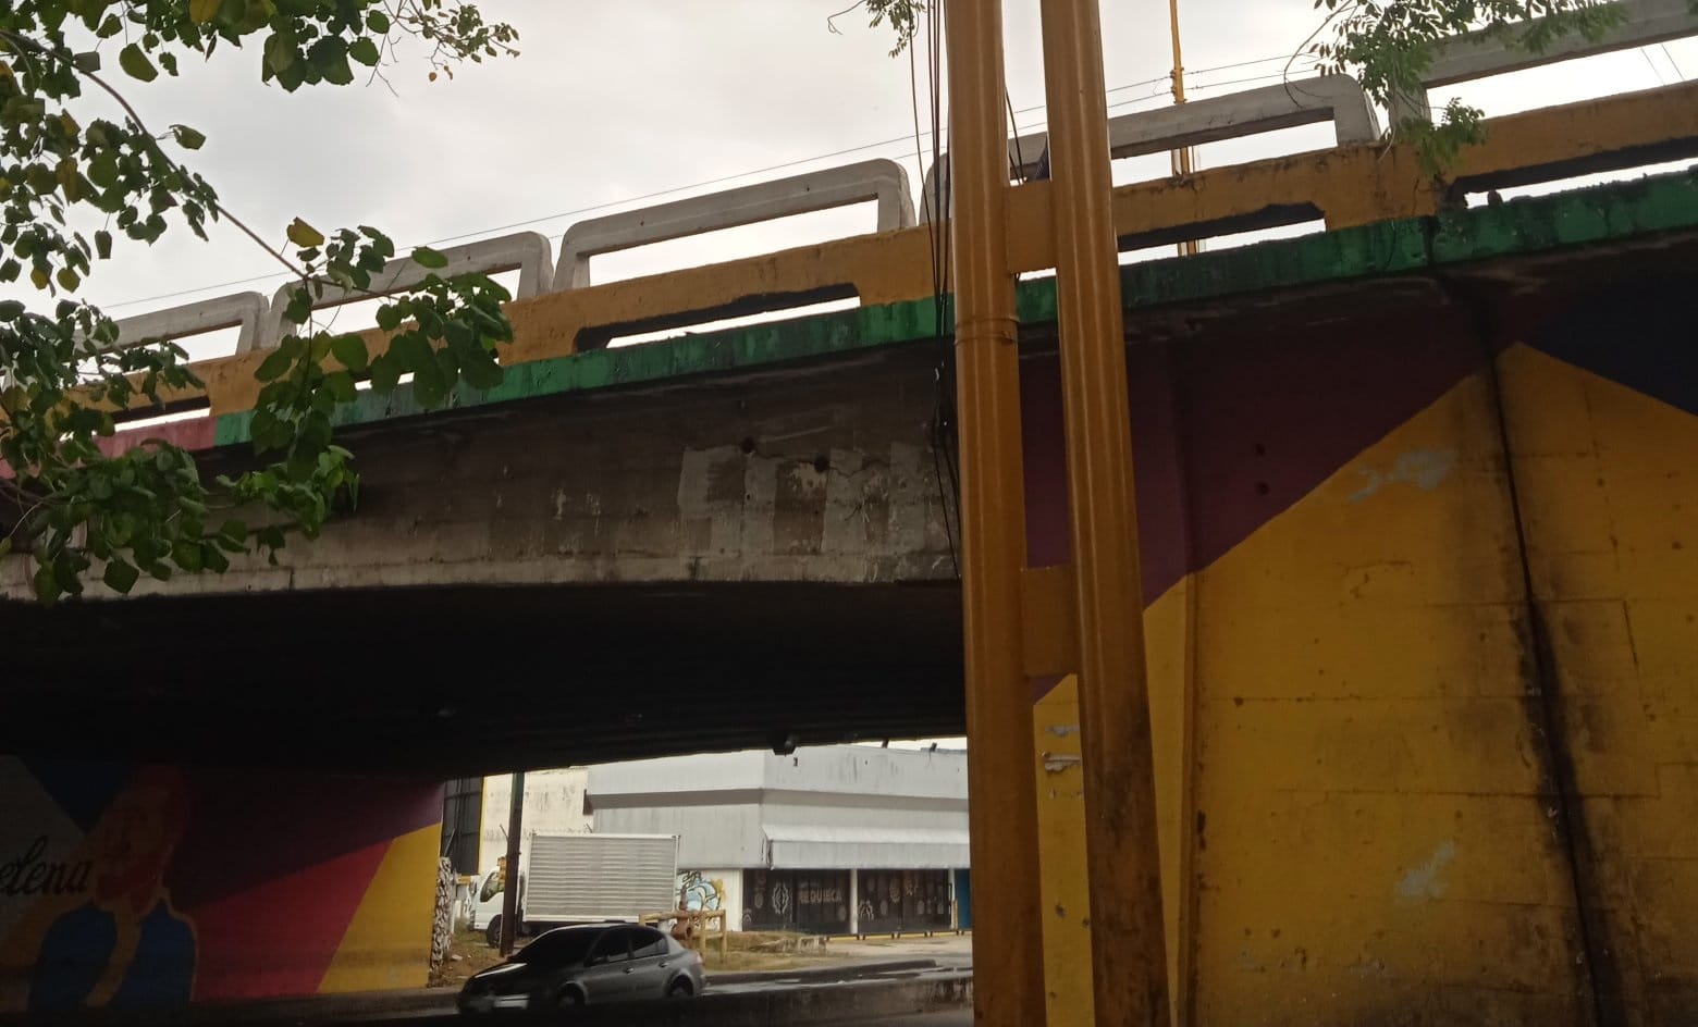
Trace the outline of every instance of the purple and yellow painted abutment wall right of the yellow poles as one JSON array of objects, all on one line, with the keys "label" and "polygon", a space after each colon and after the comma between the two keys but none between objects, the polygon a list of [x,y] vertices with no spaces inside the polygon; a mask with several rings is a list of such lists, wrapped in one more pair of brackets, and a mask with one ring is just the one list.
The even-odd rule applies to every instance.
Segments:
[{"label": "purple and yellow painted abutment wall right of the yellow poles", "polygon": [[[1131,348],[1195,1022],[1695,1022],[1695,324],[1684,273]],[[1053,358],[1022,399],[1061,564]],[[1032,684],[1049,1012],[1088,1022],[1077,682]]]}]

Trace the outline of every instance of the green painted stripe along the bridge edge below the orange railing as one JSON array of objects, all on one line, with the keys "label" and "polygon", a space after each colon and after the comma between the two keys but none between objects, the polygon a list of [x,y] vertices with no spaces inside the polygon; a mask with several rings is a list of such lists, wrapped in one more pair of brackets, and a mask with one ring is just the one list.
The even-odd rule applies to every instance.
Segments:
[{"label": "green painted stripe along the bridge edge below the orange railing", "polygon": [[[1121,300],[1127,311],[1151,309],[1326,282],[1423,273],[1496,256],[1691,227],[1698,227],[1698,170],[1452,210],[1438,217],[1387,221],[1127,265],[1121,268]],[[1015,306],[1022,324],[1054,323],[1054,278],[1022,282],[1015,292]],[[494,389],[460,384],[445,409],[878,350],[937,338],[939,323],[947,333],[947,309],[939,321],[937,304],[920,299],[555,356],[509,367]],[[365,394],[343,404],[336,409],[335,421],[348,428],[430,412],[441,409],[426,411],[414,399],[413,389],[401,385],[389,396]],[[221,416],[216,445],[250,441],[251,421],[251,412]]]}]

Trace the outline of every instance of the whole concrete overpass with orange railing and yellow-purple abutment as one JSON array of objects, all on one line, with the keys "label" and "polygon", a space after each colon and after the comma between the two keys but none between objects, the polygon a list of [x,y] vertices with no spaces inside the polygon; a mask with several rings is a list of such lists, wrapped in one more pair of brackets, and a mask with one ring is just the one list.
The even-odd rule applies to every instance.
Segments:
[{"label": "whole concrete overpass with orange railing and yellow-purple abutment", "polygon": [[[1110,137],[1347,126],[1338,85]],[[1698,180],[1462,204],[1695,156],[1681,85],[1498,119],[1447,188],[1347,141],[1114,190],[1122,250],[1326,226],[1121,272],[1170,990],[1192,1020],[1698,1015]],[[535,239],[455,253],[528,283],[506,380],[440,412],[404,387],[343,407],[365,487],[319,542],[53,611],[22,601],[22,558],[0,567],[7,631],[32,638],[8,652],[0,750],[428,779],[959,732],[937,234],[876,168],[847,178],[832,202],[885,197],[888,231],[589,283],[594,253],[790,212],[812,192],[791,183],[591,224],[554,273]],[[1009,190],[1012,272],[1054,267],[1056,202]],[[608,346],[842,295],[859,306]],[[1054,282],[1017,299],[1034,737],[1007,757],[1046,783],[1061,1024],[1082,1020],[1058,995],[1090,993],[1090,896]],[[245,351],[173,397],[200,416],[117,445],[238,465],[280,326],[251,297],[183,316],[243,324]],[[149,659],[160,630],[194,631],[195,659]],[[357,664],[302,672],[302,643]],[[90,652],[127,674],[68,686]]]}]

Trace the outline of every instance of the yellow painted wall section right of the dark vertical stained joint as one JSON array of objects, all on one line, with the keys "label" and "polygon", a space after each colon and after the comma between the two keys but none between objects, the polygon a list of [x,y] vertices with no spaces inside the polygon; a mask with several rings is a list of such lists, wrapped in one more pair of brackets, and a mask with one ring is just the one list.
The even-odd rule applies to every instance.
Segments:
[{"label": "yellow painted wall section right of the dark vertical stained joint", "polygon": [[1695,1024],[1698,419],[1528,346],[1499,368],[1600,944],[1628,1024]]}]

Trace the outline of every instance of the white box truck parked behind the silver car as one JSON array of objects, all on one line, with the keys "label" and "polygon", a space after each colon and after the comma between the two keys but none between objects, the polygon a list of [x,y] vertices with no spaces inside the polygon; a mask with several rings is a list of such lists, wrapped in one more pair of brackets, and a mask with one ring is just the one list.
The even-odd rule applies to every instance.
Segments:
[{"label": "white box truck parked behind the silver car", "polygon": [[[482,874],[469,927],[501,939],[503,871]],[[678,906],[678,835],[531,835],[520,854],[520,934],[637,920]]]}]

